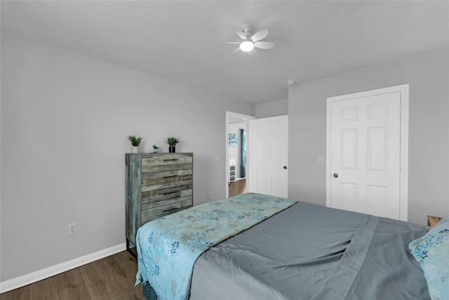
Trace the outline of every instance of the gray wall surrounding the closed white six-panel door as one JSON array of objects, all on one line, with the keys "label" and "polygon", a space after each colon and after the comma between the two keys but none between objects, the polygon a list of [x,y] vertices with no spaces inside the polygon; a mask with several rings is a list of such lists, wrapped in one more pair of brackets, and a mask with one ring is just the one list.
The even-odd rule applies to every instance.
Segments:
[{"label": "gray wall surrounding the closed white six-panel door", "polygon": [[449,53],[292,86],[288,98],[290,198],[326,205],[326,98],[410,84],[408,221],[449,214]]}]

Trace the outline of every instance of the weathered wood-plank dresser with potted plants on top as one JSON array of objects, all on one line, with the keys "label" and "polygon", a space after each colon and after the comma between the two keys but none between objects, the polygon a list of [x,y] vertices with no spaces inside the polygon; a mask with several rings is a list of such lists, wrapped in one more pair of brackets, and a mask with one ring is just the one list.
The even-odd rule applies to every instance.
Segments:
[{"label": "weathered wood-plank dresser with potted plants on top", "polygon": [[193,153],[126,153],[126,249],[143,224],[193,205]]}]

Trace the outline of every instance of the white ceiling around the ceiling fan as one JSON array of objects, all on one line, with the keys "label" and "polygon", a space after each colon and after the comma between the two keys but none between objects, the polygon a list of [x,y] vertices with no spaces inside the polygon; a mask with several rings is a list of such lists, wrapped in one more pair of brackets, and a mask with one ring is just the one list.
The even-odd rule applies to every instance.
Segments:
[{"label": "white ceiling around the ceiling fan", "polygon": [[[271,50],[230,54],[234,28]],[[449,1],[1,1],[1,30],[227,98],[265,103],[297,84],[449,48]]]}]

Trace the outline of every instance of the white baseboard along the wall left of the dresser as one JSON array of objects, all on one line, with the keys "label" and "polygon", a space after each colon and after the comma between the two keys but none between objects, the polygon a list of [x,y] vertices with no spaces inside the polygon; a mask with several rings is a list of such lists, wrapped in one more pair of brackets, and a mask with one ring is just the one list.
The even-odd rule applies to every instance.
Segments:
[{"label": "white baseboard along the wall left of the dresser", "polygon": [[71,261],[66,261],[64,263],[44,268],[42,270],[37,270],[36,272],[29,273],[18,278],[0,282],[0,294],[11,291],[13,289],[17,289],[19,287],[25,287],[25,285],[29,285],[39,280],[58,275],[67,270],[72,270],[73,268],[78,268],[79,266],[83,266],[86,263],[91,263],[92,261],[98,261],[98,259],[105,258],[106,256],[110,256],[124,250],[126,250],[126,243],[118,244],[116,246],[103,249],[92,254],[81,256],[78,259],[72,259]]}]

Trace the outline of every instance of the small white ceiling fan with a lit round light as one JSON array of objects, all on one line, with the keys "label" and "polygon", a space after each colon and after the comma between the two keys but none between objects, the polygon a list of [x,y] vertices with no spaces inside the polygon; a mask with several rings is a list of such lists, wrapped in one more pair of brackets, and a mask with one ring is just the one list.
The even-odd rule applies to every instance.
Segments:
[{"label": "small white ceiling fan with a lit round light", "polygon": [[268,50],[273,48],[274,43],[271,41],[261,41],[268,35],[268,29],[262,28],[255,34],[254,26],[251,24],[242,25],[240,29],[234,29],[236,34],[242,39],[241,41],[221,41],[220,43],[224,44],[239,44],[239,48],[236,48],[232,51],[232,54],[235,54],[239,51],[248,52],[249,56],[255,56],[255,48],[260,48],[264,50]]}]

